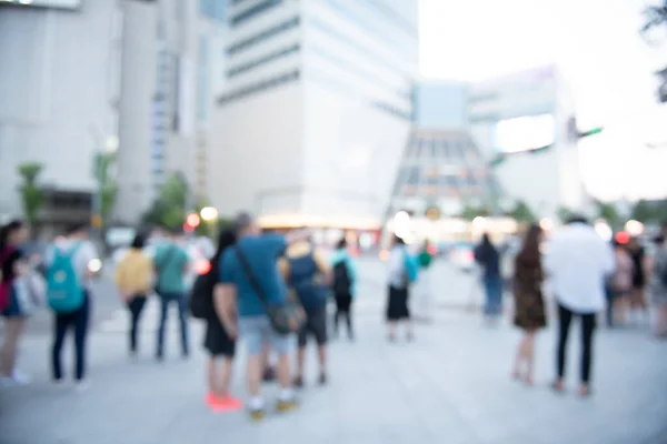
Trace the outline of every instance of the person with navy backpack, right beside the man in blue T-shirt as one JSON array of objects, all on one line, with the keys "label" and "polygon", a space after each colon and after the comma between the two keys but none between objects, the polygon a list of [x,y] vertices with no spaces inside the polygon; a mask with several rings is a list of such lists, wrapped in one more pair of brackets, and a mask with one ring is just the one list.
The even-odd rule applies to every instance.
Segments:
[{"label": "person with navy backpack, right beside the man in blue T-shirt", "polygon": [[301,241],[288,246],[278,262],[282,276],[290,291],[301,302],[306,311],[306,323],[297,334],[297,374],[295,386],[303,386],[306,345],[308,336],[317,343],[320,385],[327,383],[327,301],[331,283],[331,268],[319,249],[311,241]]}]

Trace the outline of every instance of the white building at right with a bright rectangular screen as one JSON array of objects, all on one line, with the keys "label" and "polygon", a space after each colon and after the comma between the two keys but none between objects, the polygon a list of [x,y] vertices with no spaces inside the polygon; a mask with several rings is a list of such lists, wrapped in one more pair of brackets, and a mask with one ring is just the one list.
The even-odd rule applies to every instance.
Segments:
[{"label": "white building at right with a bright rectangular screen", "polygon": [[[494,172],[510,199],[524,200],[546,218],[555,218],[559,208],[585,210],[577,143],[570,135],[575,107],[555,67],[471,84],[468,95],[477,145],[489,161],[508,154]],[[549,150],[526,151],[549,144]]]}]

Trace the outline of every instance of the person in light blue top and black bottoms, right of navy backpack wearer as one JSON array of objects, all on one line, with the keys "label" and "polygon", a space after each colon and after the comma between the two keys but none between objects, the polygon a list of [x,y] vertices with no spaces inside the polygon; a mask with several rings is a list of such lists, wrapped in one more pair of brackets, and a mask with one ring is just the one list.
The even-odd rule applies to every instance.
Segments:
[{"label": "person in light blue top and black bottoms, right of navy backpack wearer", "polygon": [[336,251],[331,256],[331,266],[334,269],[334,297],[336,299],[336,314],[334,315],[334,334],[338,336],[338,322],[340,317],[345,319],[347,324],[348,337],[354,340],[352,329],[352,300],[357,294],[357,268],[347,250],[347,241],[341,239],[336,245]]}]

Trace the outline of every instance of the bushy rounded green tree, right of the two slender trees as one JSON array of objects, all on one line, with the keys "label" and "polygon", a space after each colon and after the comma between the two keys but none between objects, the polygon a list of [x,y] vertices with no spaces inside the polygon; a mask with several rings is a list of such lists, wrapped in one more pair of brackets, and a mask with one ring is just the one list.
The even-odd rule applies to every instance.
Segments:
[{"label": "bushy rounded green tree, right of the two slender trees", "polygon": [[152,206],[143,215],[143,222],[167,229],[179,229],[186,222],[188,184],[182,175],[169,175]]}]

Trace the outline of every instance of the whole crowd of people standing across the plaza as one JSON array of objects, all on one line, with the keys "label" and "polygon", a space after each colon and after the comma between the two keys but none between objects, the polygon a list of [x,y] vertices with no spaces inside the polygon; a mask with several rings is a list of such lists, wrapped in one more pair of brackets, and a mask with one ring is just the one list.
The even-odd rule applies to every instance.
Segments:
[{"label": "whole crowd of people standing across the plaza", "polygon": [[[526,384],[534,383],[535,336],[548,323],[545,280],[557,305],[557,350],[554,390],[565,390],[567,343],[573,320],[580,319],[583,354],[579,394],[590,394],[594,336],[598,313],[607,307],[610,326],[646,316],[644,286],[650,284],[656,306],[655,333],[667,335],[667,249],[663,234],[660,246],[649,264],[638,242],[628,245],[605,242],[583,218],[574,218],[566,228],[548,240],[538,225],[530,226],[516,254],[511,293],[514,324],[524,332],[518,344],[512,375]],[[206,321],[203,346],[207,362],[207,404],[213,411],[235,411],[246,405],[253,420],[267,412],[262,382],[276,379],[279,385],[276,410],[289,412],[298,405],[295,390],[311,382],[306,374],[306,347],[309,339],[317,346],[319,372],[317,384],[329,381],[327,343],[329,331],[338,336],[344,322],[347,336],[355,339],[352,301],[358,293],[358,273],[340,240],[329,259],[311,242],[308,230],[287,234],[262,233],[248,213],[239,214],[232,226],[218,236],[218,249],[210,259],[210,270],[187,284],[191,264],[179,242],[178,231],[166,232],[156,253],[146,251],[148,239],[138,234],[128,253],[116,268],[116,284],[126,304],[130,326],[128,350],[138,355],[141,314],[150,294],[160,302],[160,321],[155,357],[163,361],[165,330],[170,305],[178,309],[180,344],[183,359],[190,355],[188,319]],[[21,245],[28,239],[20,221],[6,225],[0,233],[0,311],[4,317],[4,341],[0,355],[2,385],[27,383],[16,369],[17,350],[27,317],[46,300],[54,314],[51,353],[52,377],[66,384],[61,351],[69,331],[73,332],[77,389],[87,386],[86,343],[91,311],[91,282],[99,269],[91,266],[98,258],[88,240],[84,224],[71,226],[58,238],[43,256],[26,254]],[[547,245],[546,251],[544,245]],[[387,260],[387,337],[398,340],[402,326],[407,341],[415,340],[411,293],[429,293],[434,255],[426,243],[418,254],[395,236]],[[482,274],[486,303],[484,315],[495,325],[502,313],[506,290],[500,268],[501,253],[488,234],[475,250]],[[430,321],[429,297],[420,295],[420,312]],[[336,311],[327,306],[335,301]],[[331,317],[331,319],[329,319]],[[329,325],[332,329],[329,329]],[[248,400],[242,403],[230,392],[237,342],[243,345]],[[292,361],[292,342],[296,356]],[[271,361],[271,357],[275,360]],[[296,365],[293,365],[296,364]]]}]

